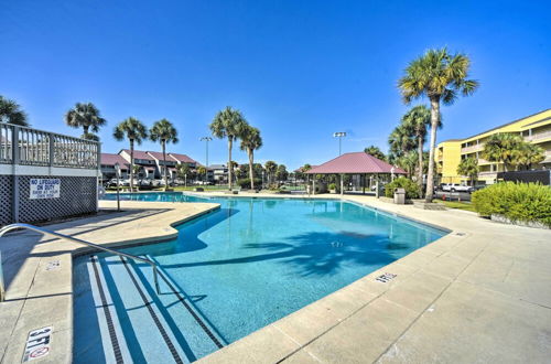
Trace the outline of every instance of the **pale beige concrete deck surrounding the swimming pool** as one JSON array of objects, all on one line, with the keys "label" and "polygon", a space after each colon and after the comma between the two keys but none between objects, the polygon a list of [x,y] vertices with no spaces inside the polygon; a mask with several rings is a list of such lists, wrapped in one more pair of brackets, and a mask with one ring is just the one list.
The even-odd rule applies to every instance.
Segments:
[{"label": "pale beige concrete deck surrounding the swimming pool", "polygon": [[[370,196],[344,199],[452,233],[203,362],[549,362],[551,231],[504,225],[463,211],[393,205]],[[101,206],[112,207],[115,202],[102,201]],[[125,213],[46,228],[99,244],[159,240],[174,236],[170,224],[216,206],[122,202]],[[72,254],[80,247],[52,243],[33,233],[0,238],[9,283],[7,302],[0,303],[4,363],[21,361],[31,330],[52,324],[52,352],[43,361],[72,360]],[[52,260],[60,260],[61,267],[46,271]],[[386,282],[376,279],[383,274],[396,277]]]}]

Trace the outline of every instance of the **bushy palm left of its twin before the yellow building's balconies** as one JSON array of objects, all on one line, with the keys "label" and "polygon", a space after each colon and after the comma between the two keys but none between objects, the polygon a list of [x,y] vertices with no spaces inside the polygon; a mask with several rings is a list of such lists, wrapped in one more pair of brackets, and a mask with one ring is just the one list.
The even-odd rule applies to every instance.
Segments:
[{"label": "bushy palm left of its twin before the yellow building's balconies", "polygon": [[489,162],[504,163],[504,171],[514,164],[523,140],[517,133],[498,132],[491,135],[484,143],[482,157]]}]

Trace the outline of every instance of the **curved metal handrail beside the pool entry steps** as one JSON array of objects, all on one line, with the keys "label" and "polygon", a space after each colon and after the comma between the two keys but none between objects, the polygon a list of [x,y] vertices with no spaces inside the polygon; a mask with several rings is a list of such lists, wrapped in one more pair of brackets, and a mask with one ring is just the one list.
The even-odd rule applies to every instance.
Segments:
[{"label": "curved metal handrail beside the pool entry steps", "polygon": [[[90,247],[99,249],[99,250],[108,251],[108,253],[111,253],[111,254],[115,254],[115,255],[118,255],[118,256],[127,257],[129,259],[134,259],[134,260],[138,260],[138,261],[141,261],[141,263],[149,264],[151,266],[151,268],[153,268],[153,279],[155,281],[156,295],[160,295],[159,278],[158,278],[158,275],[159,275],[158,274],[158,268],[156,268],[156,264],[154,261],[152,261],[152,260],[149,260],[149,259],[145,259],[145,258],[141,258],[141,257],[138,257],[138,256],[134,256],[134,255],[131,255],[131,254],[127,254],[127,253],[114,250],[111,248],[107,248],[107,247],[101,246],[101,245],[97,245],[97,244],[94,244],[94,243],[82,240],[82,239],[78,239],[76,237],[72,237],[72,236],[68,236],[68,235],[65,235],[65,234],[55,233],[55,232],[52,232],[52,231],[48,231],[48,229],[45,229],[45,228],[42,228],[42,227],[37,227],[37,226],[34,226],[34,225],[29,225],[29,224],[17,223],[17,224],[11,224],[11,225],[4,226],[4,227],[0,228],[0,237],[2,237],[9,231],[13,231],[13,229],[17,229],[17,228],[26,228],[29,231],[37,232],[37,233],[41,233],[41,234],[52,235],[52,236],[60,237],[62,239],[66,239],[66,240],[73,242],[73,243],[78,243],[78,244],[82,244],[82,245],[90,246]],[[1,269],[1,260],[0,260],[0,269]],[[2,277],[2,272],[0,271],[0,278],[1,277]],[[4,297],[6,297],[6,289],[4,289],[4,285],[3,285],[3,279],[0,279],[0,302],[2,302],[4,300]]]}]

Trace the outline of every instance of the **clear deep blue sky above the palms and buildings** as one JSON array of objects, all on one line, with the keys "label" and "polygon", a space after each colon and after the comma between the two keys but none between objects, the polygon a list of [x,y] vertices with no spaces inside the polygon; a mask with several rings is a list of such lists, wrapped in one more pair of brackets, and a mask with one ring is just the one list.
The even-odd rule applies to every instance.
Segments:
[{"label": "clear deep blue sky above the palms and buildings", "polygon": [[[551,107],[550,1],[0,1],[0,95],[41,129],[93,101],[112,128],[172,120],[174,151],[204,162],[207,125],[227,105],[261,129],[260,162],[294,169],[377,144],[408,109],[396,87],[408,62],[447,45],[482,84],[443,108],[439,140]],[[156,150],[153,143],[142,149]],[[246,156],[235,150],[237,161]],[[216,140],[210,162],[227,160]]]}]

